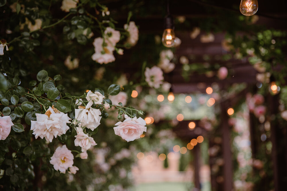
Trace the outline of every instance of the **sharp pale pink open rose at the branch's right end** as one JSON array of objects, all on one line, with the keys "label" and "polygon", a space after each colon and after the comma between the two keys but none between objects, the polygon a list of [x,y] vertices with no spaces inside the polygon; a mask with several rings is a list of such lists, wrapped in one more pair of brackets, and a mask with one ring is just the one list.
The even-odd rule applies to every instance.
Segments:
[{"label": "sharp pale pink open rose at the branch's right end", "polygon": [[139,139],[140,136],[146,132],[146,121],[141,117],[130,118],[125,115],[125,121],[115,124],[115,134],[121,136],[127,142]]}]

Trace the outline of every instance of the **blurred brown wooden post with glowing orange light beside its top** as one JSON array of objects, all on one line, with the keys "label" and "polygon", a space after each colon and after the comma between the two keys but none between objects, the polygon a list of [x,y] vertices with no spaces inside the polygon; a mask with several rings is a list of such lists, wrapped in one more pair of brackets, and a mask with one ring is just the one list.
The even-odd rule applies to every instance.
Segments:
[{"label": "blurred brown wooden post with glowing orange light beside its top", "polygon": [[221,107],[221,128],[222,128],[222,149],[223,149],[223,175],[224,175],[224,191],[231,191],[233,184],[232,174],[232,155],[231,155],[231,142],[230,142],[230,128],[228,125],[228,115],[226,113],[226,102],[220,103]]}]

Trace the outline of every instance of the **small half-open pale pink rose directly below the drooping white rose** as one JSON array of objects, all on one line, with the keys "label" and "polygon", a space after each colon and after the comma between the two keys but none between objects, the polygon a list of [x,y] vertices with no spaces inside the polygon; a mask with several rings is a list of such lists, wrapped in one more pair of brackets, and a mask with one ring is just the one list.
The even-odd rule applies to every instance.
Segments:
[{"label": "small half-open pale pink rose directly below the drooping white rose", "polygon": [[89,137],[83,132],[81,127],[77,127],[77,135],[75,135],[75,146],[82,147],[82,152],[87,151],[91,146],[97,145],[93,137]]}]

